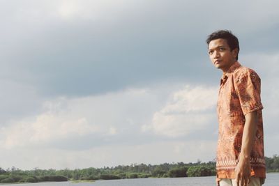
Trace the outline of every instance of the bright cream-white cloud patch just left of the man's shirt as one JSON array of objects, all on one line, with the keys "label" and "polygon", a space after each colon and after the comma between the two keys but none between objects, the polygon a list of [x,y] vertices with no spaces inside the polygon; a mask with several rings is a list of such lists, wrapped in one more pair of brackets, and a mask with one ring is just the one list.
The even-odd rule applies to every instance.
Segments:
[{"label": "bright cream-white cloud patch just left of the man's shirt", "polygon": [[218,88],[190,87],[172,94],[169,102],[153,114],[151,125],[142,130],[153,130],[167,137],[181,137],[202,130],[216,118],[212,109],[216,105]]}]

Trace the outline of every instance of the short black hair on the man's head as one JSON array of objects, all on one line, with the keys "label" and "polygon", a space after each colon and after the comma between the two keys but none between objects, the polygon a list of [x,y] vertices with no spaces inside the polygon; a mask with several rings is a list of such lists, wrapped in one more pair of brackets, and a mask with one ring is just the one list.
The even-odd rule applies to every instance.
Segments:
[{"label": "short black hair on the man's head", "polygon": [[[206,43],[207,43],[207,45],[209,45],[209,42],[211,42],[211,40],[217,40],[217,39],[227,40],[227,45],[229,45],[229,48],[231,49],[231,51],[236,48],[239,49],[239,39],[236,38],[236,36],[234,36],[234,34],[232,34],[232,31],[229,31],[229,30],[215,31],[207,37]],[[238,59],[239,59],[239,52],[236,55],[236,60],[238,60]]]}]

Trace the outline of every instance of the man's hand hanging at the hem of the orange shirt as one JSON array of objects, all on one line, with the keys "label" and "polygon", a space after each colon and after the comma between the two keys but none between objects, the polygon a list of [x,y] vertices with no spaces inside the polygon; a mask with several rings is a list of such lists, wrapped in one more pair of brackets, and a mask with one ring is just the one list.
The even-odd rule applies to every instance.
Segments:
[{"label": "man's hand hanging at the hem of the orange shirt", "polygon": [[251,178],[250,158],[240,157],[236,165],[236,184],[237,186],[247,186]]}]

